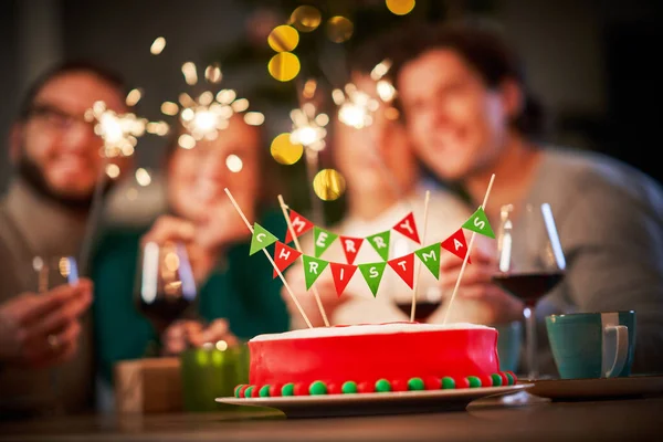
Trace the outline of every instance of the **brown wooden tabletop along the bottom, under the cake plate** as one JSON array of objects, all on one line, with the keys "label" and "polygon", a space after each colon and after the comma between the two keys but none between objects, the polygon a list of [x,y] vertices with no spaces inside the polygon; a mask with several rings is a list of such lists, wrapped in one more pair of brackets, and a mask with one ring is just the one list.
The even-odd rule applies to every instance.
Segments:
[{"label": "brown wooden tabletop along the bottom, under the cake plate", "polygon": [[280,412],[85,415],[0,424],[0,441],[663,441],[663,398],[330,419]]}]

